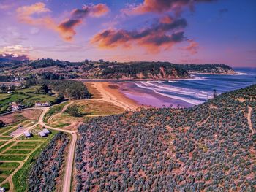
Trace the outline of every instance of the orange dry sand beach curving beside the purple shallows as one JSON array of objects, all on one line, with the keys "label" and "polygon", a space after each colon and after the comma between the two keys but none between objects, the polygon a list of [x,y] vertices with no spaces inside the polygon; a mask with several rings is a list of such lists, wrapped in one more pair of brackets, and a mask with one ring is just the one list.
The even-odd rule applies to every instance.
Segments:
[{"label": "orange dry sand beach curving beside the purple shallows", "polygon": [[89,88],[89,91],[96,95],[93,99],[99,99],[103,101],[115,104],[118,107],[124,108],[127,111],[138,110],[142,105],[136,103],[132,99],[124,96],[119,91],[119,86],[111,82],[84,82]]}]

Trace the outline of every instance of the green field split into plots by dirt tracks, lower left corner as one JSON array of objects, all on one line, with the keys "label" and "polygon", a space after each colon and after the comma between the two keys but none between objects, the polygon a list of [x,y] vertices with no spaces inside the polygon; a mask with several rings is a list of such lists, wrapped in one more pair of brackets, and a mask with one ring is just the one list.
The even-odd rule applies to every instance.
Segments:
[{"label": "green field split into plots by dirt tracks, lower left corner", "polygon": [[[28,124],[26,122],[25,124]],[[57,133],[57,131],[51,131],[48,137],[42,138],[38,136],[38,132],[42,131],[42,126],[36,126],[32,128],[30,132],[34,134],[34,137],[25,138],[19,137],[17,140],[8,143],[5,146],[0,146],[0,183],[2,183],[12,172],[20,165],[18,162],[1,162],[1,161],[23,161],[24,165],[15,175],[12,180],[15,185],[15,191],[26,191],[26,178],[29,174],[31,165],[41,152],[45,145],[48,145],[50,139]],[[1,141],[4,145],[7,141]],[[22,178],[22,180],[20,180]],[[6,188],[9,188],[9,183],[4,183]]]}]

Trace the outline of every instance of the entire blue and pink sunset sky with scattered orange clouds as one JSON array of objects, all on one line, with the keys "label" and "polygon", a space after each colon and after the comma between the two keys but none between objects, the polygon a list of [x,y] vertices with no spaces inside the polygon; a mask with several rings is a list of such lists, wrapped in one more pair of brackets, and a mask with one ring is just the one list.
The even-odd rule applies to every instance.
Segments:
[{"label": "entire blue and pink sunset sky with scattered orange clouds", "polygon": [[255,0],[0,0],[0,58],[256,66]]}]

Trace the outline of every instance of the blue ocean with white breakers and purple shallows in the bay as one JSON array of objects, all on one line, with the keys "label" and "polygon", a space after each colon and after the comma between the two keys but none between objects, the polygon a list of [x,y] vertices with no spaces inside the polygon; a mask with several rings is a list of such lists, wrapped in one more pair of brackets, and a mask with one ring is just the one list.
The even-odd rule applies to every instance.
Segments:
[{"label": "blue ocean with white breakers and purple shallows in the bay", "polygon": [[191,107],[217,94],[256,83],[256,68],[235,68],[238,74],[195,74],[186,80],[119,82],[121,92],[151,107]]}]

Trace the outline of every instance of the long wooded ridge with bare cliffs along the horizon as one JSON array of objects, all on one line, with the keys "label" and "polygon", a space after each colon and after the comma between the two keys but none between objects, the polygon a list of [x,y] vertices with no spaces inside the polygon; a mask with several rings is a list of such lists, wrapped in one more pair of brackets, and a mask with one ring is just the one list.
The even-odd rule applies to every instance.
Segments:
[{"label": "long wooded ridge with bare cliffs along the horizon", "polygon": [[227,65],[171,64],[169,62],[108,62],[108,61],[0,61],[1,80],[22,80],[35,76],[40,79],[178,79],[194,73],[234,74]]}]

